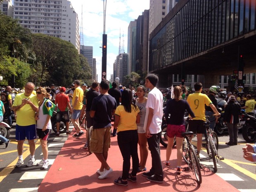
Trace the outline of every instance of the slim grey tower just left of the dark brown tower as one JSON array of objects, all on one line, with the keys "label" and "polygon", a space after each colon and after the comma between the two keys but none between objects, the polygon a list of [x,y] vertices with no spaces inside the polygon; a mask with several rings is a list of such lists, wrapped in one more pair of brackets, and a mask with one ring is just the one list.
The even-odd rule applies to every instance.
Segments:
[{"label": "slim grey tower just left of the dark brown tower", "polygon": [[128,74],[135,71],[136,66],[136,26],[137,26],[137,19],[135,21],[130,21],[128,26]]}]

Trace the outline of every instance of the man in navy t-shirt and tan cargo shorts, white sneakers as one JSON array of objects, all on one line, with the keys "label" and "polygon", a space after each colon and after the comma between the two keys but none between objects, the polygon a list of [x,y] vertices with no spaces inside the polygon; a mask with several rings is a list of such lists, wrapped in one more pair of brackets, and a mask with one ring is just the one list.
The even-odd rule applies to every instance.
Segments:
[{"label": "man in navy t-shirt and tan cargo shorts, white sneakers", "polygon": [[100,83],[101,95],[92,100],[90,116],[94,118],[93,131],[90,139],[90,151],[101,162],[97,173],[99,179],[104,179],[113,170],[107,164],[107,156],[110,147],[111,117],[116,111],[116,100],[108,94],[109,81]]}]

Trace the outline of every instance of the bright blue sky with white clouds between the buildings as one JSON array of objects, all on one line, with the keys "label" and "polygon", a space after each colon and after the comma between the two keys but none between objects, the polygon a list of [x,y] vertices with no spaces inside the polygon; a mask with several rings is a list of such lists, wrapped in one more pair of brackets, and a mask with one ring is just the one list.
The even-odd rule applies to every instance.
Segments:
[{"label": "bright blue sky with white clouds between the buildings", "polygon": [[[101,81],[102,49],[100,47],[102,46],[103,34],[103,0],[69,1],[78,14],[80,25],[83,5],[83,43],[86,46],[93,46],[93,58],[96,58],[97,62],[98,81]],[[137,19],[145,9],[149,9],[149,0],[107,0],[105,26],[105,34],[107,34],[107,80],[113,74],[113,63],[119,53],[120,30],[121,50],[124,40],[124,51],[127,53],[129,23]]]}]

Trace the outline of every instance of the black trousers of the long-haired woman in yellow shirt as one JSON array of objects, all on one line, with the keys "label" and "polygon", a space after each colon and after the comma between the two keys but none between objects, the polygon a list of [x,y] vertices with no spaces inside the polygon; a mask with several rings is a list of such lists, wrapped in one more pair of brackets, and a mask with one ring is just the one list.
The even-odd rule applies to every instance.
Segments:
[{"label": "black trousers of the long-haired woman in yellow shirt", "polygon": [[130,157],[132,156],[133,170],[131,175],[136,176],[139,167],[138,133],[137,130],[120,131],[117,134],[117,143],[123,156],[122,179],[126,180],[130,171]]}]

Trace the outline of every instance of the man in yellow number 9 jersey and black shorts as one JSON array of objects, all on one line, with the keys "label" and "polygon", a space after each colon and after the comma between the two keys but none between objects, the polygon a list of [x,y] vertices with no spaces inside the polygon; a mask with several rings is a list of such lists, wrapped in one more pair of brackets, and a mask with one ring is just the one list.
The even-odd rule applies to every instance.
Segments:
[{"label": "man in yellow number 9 jersey and black shorts", "polygon": [[206,121],[206,119],[205,119],[204,105],[206,104],[207,106],[210,106],[213,112],[215,113],[214,115],[217,115],[217,116],[220,115],[220,113],[217,111],[216,107],[211,102],[209,97],[201,93],[202,89],[203,87],[201,83],[195,83],[194,84],[195,92],[193,94],[190,94],[187,97],[187,102],[190,105],[190,108],[192,109],[194,115],[196,116],[195,118],[193,118],[193,120],[189,121],[189,128],[190,128],[190,131],[197,134],[197,152],[198,152],[197,156],[198,157],[199,157],[199,153],[202,146],[202,137],[203,137],[203,134],[205,133],[204,122]]}]

